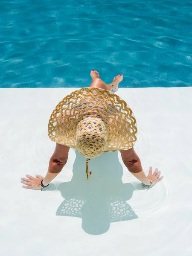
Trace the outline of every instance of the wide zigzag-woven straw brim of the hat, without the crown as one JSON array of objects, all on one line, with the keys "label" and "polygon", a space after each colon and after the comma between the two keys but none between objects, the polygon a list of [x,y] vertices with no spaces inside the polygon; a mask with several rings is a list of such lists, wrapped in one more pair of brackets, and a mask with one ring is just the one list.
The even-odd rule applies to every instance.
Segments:
[{"label": "wide zigzag-woven straw brim of the hat, without the crown", "polygon": [[86,117],[100,118],[105,123],[108,140],[104,152],[134,146],[137,123],[131,108],[118,95],[95,87],[75,90],[58,103],[49,119],[49,138],[76,148],[76,127]]}]

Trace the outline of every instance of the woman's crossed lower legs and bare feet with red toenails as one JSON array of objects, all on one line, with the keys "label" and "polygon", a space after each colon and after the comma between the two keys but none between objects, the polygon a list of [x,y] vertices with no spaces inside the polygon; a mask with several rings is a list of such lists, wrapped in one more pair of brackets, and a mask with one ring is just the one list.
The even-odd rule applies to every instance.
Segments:
[{"label": "woman's crossed lower legs and bare feet with red toenails", "polygon": [[92,83],[90,84],[90,87],[102,88],[109,91],[111,91],[114,87],[114,92],[118,90],[119,82],[123,79],[122,75],[116,76],[113,79],[113,82],[111,82],[111,84],[113,84],[112,86],[111,84],[105,84],[104,81],[102,81],[102,79],[99,78],[99,72],[97,72],[96,70],[92,70],[90,76],[93,79]]}]

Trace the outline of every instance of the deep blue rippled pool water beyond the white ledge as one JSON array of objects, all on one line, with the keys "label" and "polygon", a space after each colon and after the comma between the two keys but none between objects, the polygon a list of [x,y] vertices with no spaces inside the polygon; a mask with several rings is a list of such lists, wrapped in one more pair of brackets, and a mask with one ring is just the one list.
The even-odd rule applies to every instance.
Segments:
[{"label": "deep blue rippled pool water beyond the white ledge", "polygon": [[0,87],[192,86],[191,0],[0,0]]}]

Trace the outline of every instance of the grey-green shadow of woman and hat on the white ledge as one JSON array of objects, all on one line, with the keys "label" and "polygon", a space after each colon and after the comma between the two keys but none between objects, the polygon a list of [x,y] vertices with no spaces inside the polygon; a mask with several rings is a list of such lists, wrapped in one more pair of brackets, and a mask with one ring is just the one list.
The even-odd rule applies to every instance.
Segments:
[{"label": "grey-green shadow of woman and hat on the white ledge", "polygon": [[92,235],[107,232],[111,222],[138,218],[126,202],[132,197],[134,186],[122,183],[123,169],[117,151],[89,160],[89,180],[85,167],[85,158],[76,150],[73,177],[57,188],[65,200],[56,215],[82,218],[83,230]]}]

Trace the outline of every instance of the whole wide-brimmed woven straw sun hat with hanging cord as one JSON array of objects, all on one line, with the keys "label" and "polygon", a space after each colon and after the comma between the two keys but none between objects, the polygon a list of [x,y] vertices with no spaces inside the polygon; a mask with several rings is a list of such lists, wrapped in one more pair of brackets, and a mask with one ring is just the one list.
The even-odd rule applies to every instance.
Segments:
[{"label": "whole wide-brimmed woven straw sun hat with hanging cord", "polygon": [[88,160],[103,152],[126,150],[137,140],[137,124],[131,108],[118,95],[101,88],[85,87],[58,103],[48,124],[49,138],[77,148]]}]

